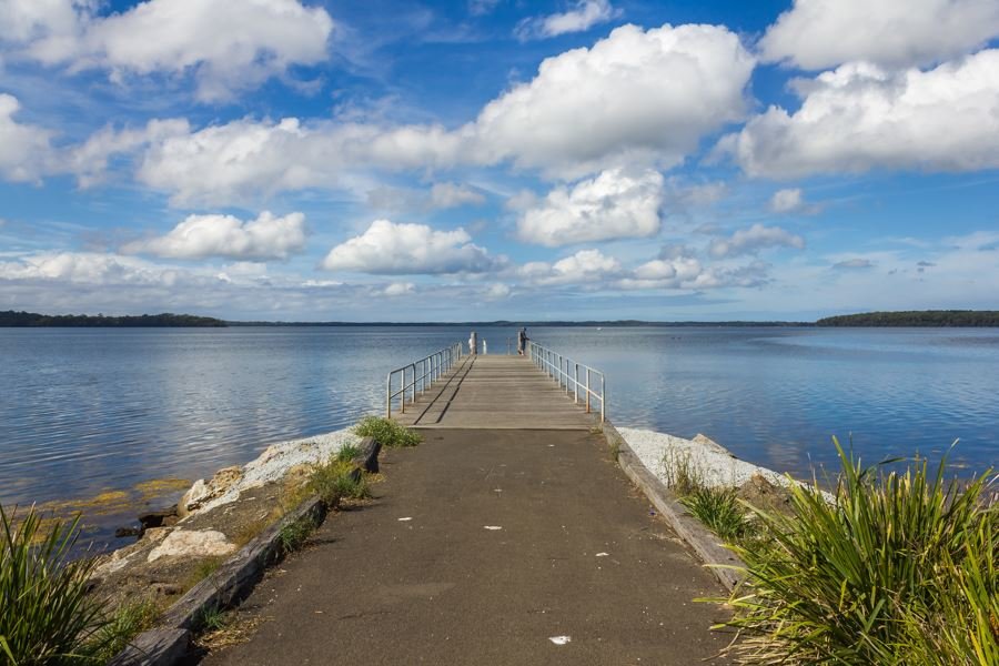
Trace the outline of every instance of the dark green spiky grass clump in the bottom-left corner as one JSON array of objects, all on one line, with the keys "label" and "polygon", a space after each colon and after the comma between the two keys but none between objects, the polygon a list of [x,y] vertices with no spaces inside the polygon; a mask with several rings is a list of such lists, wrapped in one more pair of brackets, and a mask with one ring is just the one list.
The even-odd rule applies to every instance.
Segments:
[{"label": "dark green spiky grass clump in the bottom-left corner", "polygon": [[108,626],[100,602],[87,595],[94,561],[70,559],[79,517],[46,523],[0,506],[0,656],[10,664],[89,663]]}]

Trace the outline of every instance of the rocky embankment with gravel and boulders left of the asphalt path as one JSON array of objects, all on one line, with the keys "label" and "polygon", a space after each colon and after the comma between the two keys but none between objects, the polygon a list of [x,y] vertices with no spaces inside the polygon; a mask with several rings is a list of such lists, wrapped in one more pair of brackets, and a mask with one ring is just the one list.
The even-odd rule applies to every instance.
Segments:
[{"label": "rocky embankment with gravel and boulders left of the asphalt path", "polygon": [[93,594],[113,605],[170,606],[297,506],[314,464],[360,441],[343,430],[281,442],[242,467],[194,482],[175,507],[142,516],[145,527],[135,543],[100,557]]}]

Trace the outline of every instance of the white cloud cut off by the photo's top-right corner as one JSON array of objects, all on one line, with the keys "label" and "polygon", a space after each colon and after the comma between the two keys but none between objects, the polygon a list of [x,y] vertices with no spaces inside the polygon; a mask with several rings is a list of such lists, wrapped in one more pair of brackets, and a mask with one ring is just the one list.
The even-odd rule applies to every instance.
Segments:
[{"label": "white cloud cut off by the photo's top-right corner", "polygon": [[759,42],[763,58],[809,70],[961,56],[999,36],[996,0],[795,0]]}]

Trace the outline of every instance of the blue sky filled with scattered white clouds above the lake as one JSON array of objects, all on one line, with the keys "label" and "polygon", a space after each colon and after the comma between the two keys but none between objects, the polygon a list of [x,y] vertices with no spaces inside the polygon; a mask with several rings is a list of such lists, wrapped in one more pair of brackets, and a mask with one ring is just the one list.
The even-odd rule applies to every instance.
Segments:
[{"label": "blue sky filled with scattered white clouds above the lake", "polygon": [[0,0],[0,310],[999,309],[997,0]]}]

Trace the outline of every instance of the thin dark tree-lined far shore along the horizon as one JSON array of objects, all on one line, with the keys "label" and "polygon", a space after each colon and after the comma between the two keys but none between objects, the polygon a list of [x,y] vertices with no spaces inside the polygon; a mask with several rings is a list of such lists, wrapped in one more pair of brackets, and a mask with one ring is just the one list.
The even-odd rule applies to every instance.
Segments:
[{"label": "thin dark tree-lined far shore along the horizon", "polygon": [[608,329],[684,329],[684,327],[999,327],[999,311],[995,310],[924,310],[905,312],[866,312],[824,317],[815,322],[787,321],[719,321],[719,322],[650,322],[643,320],[588,320],[588,321],[478,321],[478,322],[260,322],[225,321],[191,314],[143,314],[104,316],[87,314],[47,315],[32,312],[0,312],[0,327],[249,327],[249,326],[506,326],[506,327],[608,327]]}]

